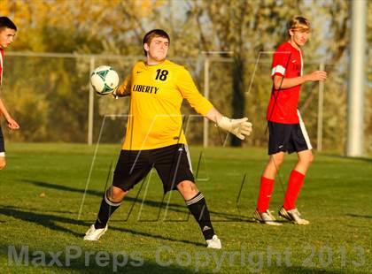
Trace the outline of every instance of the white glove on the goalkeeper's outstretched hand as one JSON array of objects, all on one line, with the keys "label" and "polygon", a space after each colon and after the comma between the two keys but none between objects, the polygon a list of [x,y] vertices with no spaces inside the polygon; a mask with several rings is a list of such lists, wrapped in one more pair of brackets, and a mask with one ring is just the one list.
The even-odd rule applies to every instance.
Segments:
[{"label": "white glove on the goalkeeper's outstretched hand", "polygon": [[217,126],[233,133],[240,140],[245,139],[245,135],[250,135],[252,133],[252,123],[248,122],[248,118],[240,119],[230,119],[223,116],[220,121],[218,121]]}]

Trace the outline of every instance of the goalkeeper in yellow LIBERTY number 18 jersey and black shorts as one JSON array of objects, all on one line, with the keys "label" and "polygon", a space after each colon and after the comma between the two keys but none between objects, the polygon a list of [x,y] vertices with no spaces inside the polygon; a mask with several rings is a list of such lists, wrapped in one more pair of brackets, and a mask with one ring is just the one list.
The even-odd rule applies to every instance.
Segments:
[{"label": "goalkeeper in yellow LIBERTY number 18 jersey and black shorts", "polygon": [[120,202],[154,167],[163,182],[164,193],[178,190],[195,217],[207,247],[221,248],[213,230],[205,197],[198,190],[191,171],[189,150],[182,131],[182,100],[217,126],[244,140],[252,132],[248,118],[230,119],[198,92],[182,65],[168,61],[169,36],[161,29],[143,37],[146,62],[137,62],[127,79],[113,93],[130,95],[126,138],[114,171],[112,186],[106,191],[84,240],[98,240]]}]

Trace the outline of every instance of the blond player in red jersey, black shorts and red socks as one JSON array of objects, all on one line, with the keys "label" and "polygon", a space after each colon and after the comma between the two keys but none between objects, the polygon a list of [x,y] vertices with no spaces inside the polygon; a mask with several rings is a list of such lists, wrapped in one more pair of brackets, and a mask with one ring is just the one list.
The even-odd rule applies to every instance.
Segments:
[{"label": "blond player in red jersey, black shorts and red socks", "polygon": [[276,49],[273,57],[273,88],[267,107],[269,131],[269,160],[260,179],[260,194],[253,218],[267,225],[282,225],[268,210],[276,173],[283,164],[284,153],[296,152],[298,162],[291,171],[283,207],[279,216],[294,224],[307,225],[295,202],[303,185],[306,171],[313,161],[312,146],[306,128],[298,112],[301,85],[306,81],[326,80],[327,72],[315,71],[303,75],[303,52],[301,47],[310,34],[310,23],[303,17],[291,19],[288,25],[290,39]]}]

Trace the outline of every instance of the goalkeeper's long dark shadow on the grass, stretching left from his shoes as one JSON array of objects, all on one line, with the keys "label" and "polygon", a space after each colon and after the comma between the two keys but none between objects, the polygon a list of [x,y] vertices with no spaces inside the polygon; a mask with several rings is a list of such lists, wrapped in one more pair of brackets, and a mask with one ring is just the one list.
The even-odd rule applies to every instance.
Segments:
[{"label": "goalkeeper's long dark shadow on the grass, stretching left from his shoes", "polygon": [[[61,225],[57,225],[56,223],[60,222],[60,223],[70,224],[70,225],[81,225],[81,226],[84,226],[83,232],[85,232],[85,229],[88,229],[89,225],[91,225],[91,223],[88,223],[86,221],[75,220],[69,217],[61,217],[61,216],[50,215],[50,214],[36,213],[36,212],[27,211],[24,209],[19,209],[19,208],[11,207],[11,206],[0,207],[0,214],[9,216],[9,217],[14,217],[14,218],[17,218],[25,222],[34,223],[37,225],[43,225],[47,229],[72,234],[75,237],[78,237],[81,239],[84,235],[82,232],[81,233],[75,232]],[[190,244],[193,246],[204,246],[200,242],[174,239],[170,237],[164,237],[162,235],[156,235],[153,233],[150,234],[147,232],[138,232],[132,229],[121,228],[121,227],[116,227],[116,226],[110,226],[110,230],[119,231],[119,232],[127,232],[132,235],[138,235],[138,236],[153,238],[157,240],[169,240],[173,242],[181,242],[184,244]]]}]

